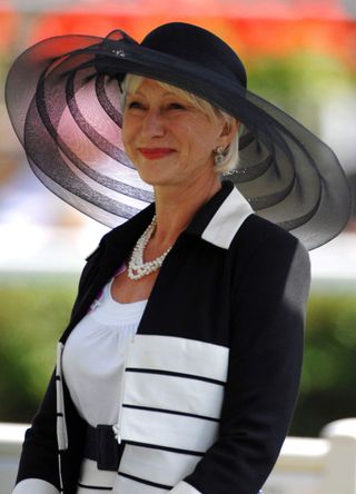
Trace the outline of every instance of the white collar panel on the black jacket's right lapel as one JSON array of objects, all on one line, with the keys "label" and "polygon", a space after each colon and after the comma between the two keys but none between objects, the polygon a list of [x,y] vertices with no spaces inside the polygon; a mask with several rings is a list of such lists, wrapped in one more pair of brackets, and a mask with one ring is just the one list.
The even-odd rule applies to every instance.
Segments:
[{"label": "white collar panel on the black jacket's right lapel", "polygon": [[253,208],[236,187],[211,218],[201,235],[204,240],[228,249],[245,219],[254,213]]}]

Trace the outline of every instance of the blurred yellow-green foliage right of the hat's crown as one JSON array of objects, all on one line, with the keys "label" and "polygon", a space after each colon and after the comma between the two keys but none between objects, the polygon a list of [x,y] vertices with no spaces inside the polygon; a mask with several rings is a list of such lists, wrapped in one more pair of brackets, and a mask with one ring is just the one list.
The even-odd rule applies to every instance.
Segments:
[{"label": "blurred yellow-green foliage right of the hat's crown", "polygon": [[319,134],[325,102],[354,93],[356,89],[356,72],[342,60],[310,51],[286,58],[258,58],[248,63],[247,71],[248,89],[316,134]]}]

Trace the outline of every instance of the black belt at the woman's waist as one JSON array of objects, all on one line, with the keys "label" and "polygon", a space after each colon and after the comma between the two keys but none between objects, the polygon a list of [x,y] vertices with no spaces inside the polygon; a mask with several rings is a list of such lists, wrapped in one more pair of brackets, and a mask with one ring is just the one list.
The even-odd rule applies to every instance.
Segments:
[{"label": "black belt at the woman's waist", "polygon": [[123,445],[115,437],[112,425],[87,425],[83,456],[93,460],[98,470],[118,471]]}]

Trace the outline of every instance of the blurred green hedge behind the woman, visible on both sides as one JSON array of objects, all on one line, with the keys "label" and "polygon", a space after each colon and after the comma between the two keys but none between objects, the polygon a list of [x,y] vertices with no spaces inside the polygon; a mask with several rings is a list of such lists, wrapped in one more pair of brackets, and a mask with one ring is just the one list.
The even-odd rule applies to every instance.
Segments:
[{"label": "blurred green hedge behind the woman, visible on both sides", "polygon": [[[26,279],[0,286],[0,422],[29,422],[52,372],[76,281]],[[356,414],[356,295],[314,294],[293,435],[318,435]]]}]

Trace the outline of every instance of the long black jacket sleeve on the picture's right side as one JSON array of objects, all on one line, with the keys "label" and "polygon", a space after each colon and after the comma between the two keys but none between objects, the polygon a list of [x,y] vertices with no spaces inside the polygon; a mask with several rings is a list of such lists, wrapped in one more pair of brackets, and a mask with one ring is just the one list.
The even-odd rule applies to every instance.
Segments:
[{"label": "long black jacket sleeve on the picture's right side", "polygon": [[219,437],[174,494],[257,494],[277,461],[298,393],[309,259],[289,234],[247,257],[233,290]]}]

